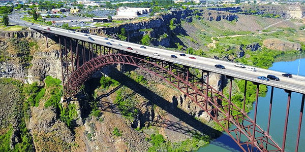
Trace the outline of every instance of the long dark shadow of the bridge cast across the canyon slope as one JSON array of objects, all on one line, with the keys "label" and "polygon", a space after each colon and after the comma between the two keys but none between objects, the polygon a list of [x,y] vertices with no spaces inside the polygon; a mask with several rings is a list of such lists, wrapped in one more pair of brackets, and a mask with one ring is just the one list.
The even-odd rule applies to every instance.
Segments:
[{"label": "long dark shadow of the bridge cast across the canyon slope", "polygon": [[[159,120],[154,120],[155,123],[152,123],[152,125],[156,125],[158,127],[165,127],[166,129],[170,129],[182,134],[188,134],[190,135],[190,132],[199,131],[203,134],[209,135],[214,141],[212,141],[212,144],[215,144],[217,146],[221,146],[225,149],[231,150],[231,151],[242,151],[240,147],[233,141],[233,139],[226,135],[222,134],[222,132],[215,130],[202,122],[196,120],[193,118],[192,115],[189,113],[181,110],[177,107],[177,104],[175,102],[171,103],[164,98],[160,97],[153,91],[145,88],[144,86],[138,84],[131,78],[127,77],[125,74],[119,72],[116,68],[111,67],[111,73],[109,74],[109,77],[113,80],[119,82],[121,85],[126,86],[133,90],[134,92],[140,94],[144,98],[146,98],[149,102],[159,106],[166,112],[168,112],[170,115],[174,116],[175,118],[179,119],[178,122],[172,122],[170,120],[166,120],[164,118],[158,118]],[[120,87],[120,86],[119,86]],[[97,99],[101,101],[103,97],[109,96],[111,93],[115,92],[119,87],[115,88],[114,90],[111,90],[109,93],[102,95],[98,97]],[[107,112],[113,112],[113,113],[120,113],[118,111],[118,105],[101,101],[99,104],[100,108],[103,111]],[[133,110],[131,110],[133,111]],[[135,113],[137,114],[137,113]],[[121,115],[121,113],[120,113]],[[186,125],[181,125],[181,122],[186,123]],[[194,135],[194,134],[193,134]],[[217,139],[219,137],[222,137],[221,141],[218,141]]]}]

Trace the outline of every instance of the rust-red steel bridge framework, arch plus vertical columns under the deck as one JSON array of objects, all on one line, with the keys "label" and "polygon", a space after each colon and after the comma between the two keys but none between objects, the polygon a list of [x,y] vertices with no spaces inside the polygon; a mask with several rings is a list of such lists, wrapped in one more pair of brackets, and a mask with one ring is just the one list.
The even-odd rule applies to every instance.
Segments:
[{"label": "rust-red steel bridge framework, arch plus vertical columns under the deck", "polygon": [[[64,99],[74,96],[86,80],[102,67],[110,64],[129,64],[142,68],[159,78],[170,83],[179,91],[184,93],[202,110],[218,123],[243,151],[284,151],[286,132],[289,115],[289,104],[291,92],[288,92],[288,104],[283,137],[283,145],[279,146],[270,136],[270,117],[273,96],[271,88],[271,100],[269,109],[268,129],[264,131],[258,124],[257,104],[255,106],[255,117],[252,120],[245,112],[247,80],[243,98],[243,108],[237,107],[231,102],[232,77],[229,83],[229,98],[223,95],[223,90],[218,91],[212,88],[209,82],[210,71],[201,70],[201,78],[190,72],[190,67],[179,65],[173,62],[156,59],[141,55],[138,52],[130,53],[124,50],[115,50],[111,47],[89,43],[81,40],[70,39],[69,37],[55,35],[55,41],[60,46],[60,59],[62,62],[62,77],[64,86]],[[206,77],[203,77],[203,75]],[[256,103],[260,84],[255,83]],[[296,151],[298,149],[300,126],[304,106],[305,95],[302,95],[298,137]],[[234,126],[234,127],[232,127]]]}]

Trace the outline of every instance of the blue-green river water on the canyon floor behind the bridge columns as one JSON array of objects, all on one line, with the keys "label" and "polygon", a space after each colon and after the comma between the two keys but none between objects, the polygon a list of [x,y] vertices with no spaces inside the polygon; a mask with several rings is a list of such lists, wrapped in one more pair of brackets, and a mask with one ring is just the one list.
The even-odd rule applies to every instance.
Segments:
[{"label": "blue-green river water on the canyon floor behind the bridge columns", "polygon": [[[299,75],[305,75],[305,58],[287,61],[287,62],[276,62],[273,63],[272,67],[269,69],[288,72],[292,74],[297,74],[299,66]],[[278,75],[280,76],[280,75]],[[279,77],[281,79],[281,77]],[[299,80],[300,83],[305,83],[305,80]],[[268,92],[265,97],[259,97],[258,99],[258,111],[257,111],[257,124],[262,127],[263,130],[267,130],[268,123],[268,112],[270,105],[270,95],[271,87],[268,87]],[[272,139],[275,140],[281,147],[283,143],[283,134],[284,134],[284,124],[286,118],[286,106],[287,106],[288,93],[285,93],[284,90],[275,88],[273,92],[273,102],[272,102],[272,112],[271,112],[271,121],[270,121],[270,135]],[[300,106],[301,106],[302,95],[299,93],[292,93],[290,110],[288,117],[288,129],[287,129],[287,138],[285,151],[292,152],[295,151],[296,145],[296,136],[300,115]],[[253,107],[255,107],[255,104]],[[254,120],[254,109],[252,109],[248,116]],[[305,151],[305,114],[303,112],[302,126],[301,126],[301,135],[299,141],[298,151]],[[201,147],[197,152],[226,152],[226,151],[241,151],[238,145],[227,135],[223,134],[221,137],[217,138],[215,141],[212,141],[208,146]]]}]

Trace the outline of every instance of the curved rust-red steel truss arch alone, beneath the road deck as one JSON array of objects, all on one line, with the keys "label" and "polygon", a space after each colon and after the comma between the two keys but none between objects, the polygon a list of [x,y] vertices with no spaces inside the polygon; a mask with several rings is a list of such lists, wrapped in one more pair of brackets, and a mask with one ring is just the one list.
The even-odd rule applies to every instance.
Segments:
[{"label": "curved rust-red steel truss arch alone, beneath the road deck", "polygon": [[[110,64],[134,65],[148,72],[154,73],[164,81],[170,83],[195,102],[201,109],[217,122],[240,146],[243,151],[281,151],[281,147],[272,140],[267,131],[262,130],[247,116],[245,110],[240,109],[226,98],[222,92],[208,85],[209,71],[206,73],[206,81],[203,77],[197,78],[190,73],[189,67],[177,65],[171,62],[157,60],[149,57],[135,57],[123,54],[111,54],[93,58],[71,73],[70,78],[64,82],[64,96],[75,95],[84,82],[102,67]],[[246,87],[245,87],[246,88]],[[257,96],[259,84],[257,84]],[[244,102],[245,105],[245,102]],[[233,113],[237,113],[234,114]],[[253,149],[255,148],[255,149]]]}]

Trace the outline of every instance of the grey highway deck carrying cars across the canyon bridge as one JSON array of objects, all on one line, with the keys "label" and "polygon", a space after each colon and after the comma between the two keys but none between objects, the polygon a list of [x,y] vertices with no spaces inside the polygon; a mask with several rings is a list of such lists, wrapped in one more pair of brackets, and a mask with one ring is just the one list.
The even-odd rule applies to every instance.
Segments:
[{"label": "grey highway deck carrying cars across the canyon bridge", "polygon": [[[238,79],[243,79],[243,80],[248,80],[251,82],[256,82],[259,84],[264,84],[268,86],[273,86],[276,88],[281,88],[281,89],[286,89],[290,90],[293,92],[298,92],[305,94],[305,77],[301,77],[300,75],[297,78],[297,75],[292,75],[293,78],[286,78],[282,77],[283,72],[279,71],[273,71],[273,70],[268,70],[268,69],[263,69],[263,68],[258,68],[258,67],[253,67],[256,68],[257,71],[250,71],[246,70],[245,68],[239,68],[235,67],[234,65],[236,63],[232,62],[227,62],[227,61],[221,61],[221,60],[216,60],[216,59],[210,59],[210,58],[205,58],[205,57],[199,57],[199,56],[194,56],[190,54],[186,54],[186,56],[180,56],[180,52],[174,52],[174,51],[169,51],[165,49],[159,49],[159,48],[154,48],[154,47],[149,47],[145,46],[146,49],[140,48],[143,45],[139,44],[134,44],[134,43],[129,43],[125,41],[119,41],[119,40],[114,40],[114,39],[109,39],[105,40],[106,37],[102,36],[97,36],[93,34],[87,34],[88,36],[92,37],[93,40],[89,40],[88,36],[86,36],[86,33],[82,32],[73,32],[72,30],[66,30],[62,28],[55,28],[51,26],[41,26],[38,24],[31,24],[26,21],[22,21],[20,19],[20,14],[12,14],[10,15],[10,22],[19,24],[21,26],[27,26],[30,27],[34,30],[40,30],[44,32],[49,32],[57,35],[63,35],[67,37],[71,37],[74,39],[78,39],[81,41],[86,41],[89,43],[95,43],[98,45],[103,45],[103,46],[108,46],[112,47],[114,49],[119,49],[119,50],[124,50],[127,52],[133,52],[157,59],[162,59],[166,60],[169,62],[181,64],[181,65],[187,65],[190,67],[198,68],[198,69],[203,69],[206,71],[211,71],[219,74],[224,74],[224,75],[229,75],[234,78]],[[50,30],[47,30],[47,28],[50,28]],[[111,42],[114,41],[114,42]],[[109,42],[112,45],[107,45],[106,43]],[[120,44],[120,45],[118,45]],[[133,50],[127,49],[127,47],[131,47]],[[158,53],[159,56],[154,55],[154,53]],[[177,56],[177,58],[171,58],[171,55]],[[189,57],[195,57],[196,59],[191,59]],[[225,66],[225,69],[219,69],[215,67],[215,64],[222,64]],[[250,66],[247,66],[250,67]],[[301,69],[304,70],[304,69]],[[265,81],[265,80],[260,80],[257,77],[258,76],[265,76],[267,77],[268,74],[276,75],[277,77],[280,78],[280,81]]]}]

